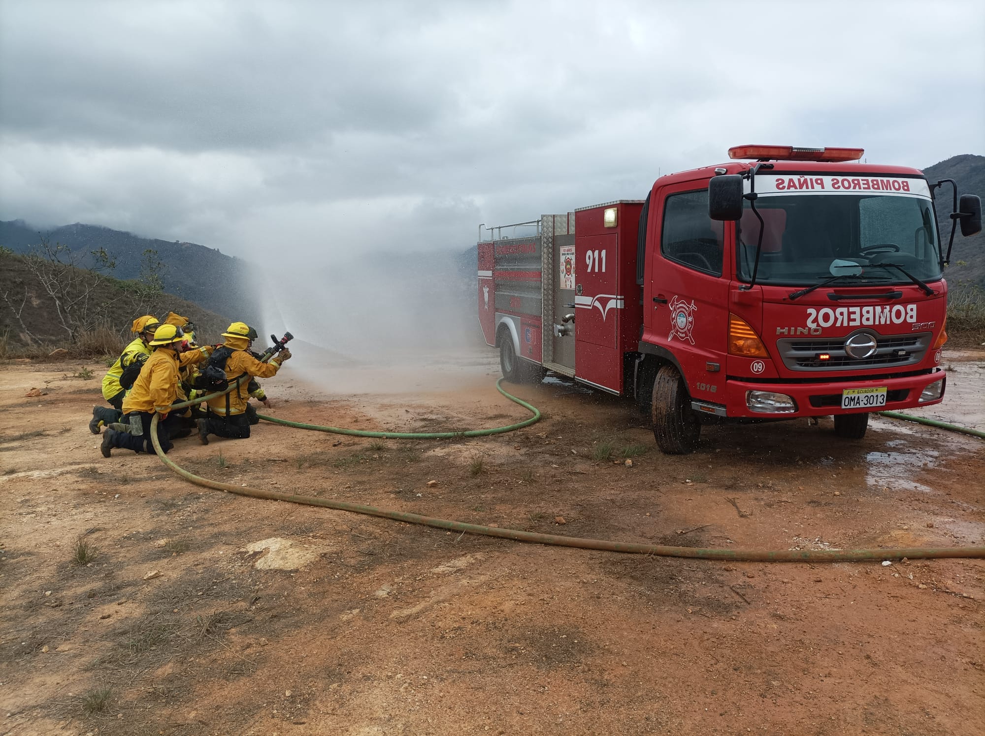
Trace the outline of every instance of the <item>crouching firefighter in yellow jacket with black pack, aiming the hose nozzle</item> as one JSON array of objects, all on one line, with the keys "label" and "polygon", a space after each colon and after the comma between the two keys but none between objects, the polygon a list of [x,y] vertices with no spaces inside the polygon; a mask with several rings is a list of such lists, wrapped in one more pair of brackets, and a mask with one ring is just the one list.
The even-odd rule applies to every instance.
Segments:
[{"label": "crouching firefighter in yellow jacket with black pack, aiming the hose nozzle", "polygon": [[257,360],[249,352],[255,336],[256,331],[245,322],[233,322],[223,333],[226,342],[209,358],[209,365],[224,369],[230,385],[236,384],[236,388],[224,397],[209,399],[206,418],[198,420],[198,436],[203,445],[209,444],[210,434],[230,439],[249,437],[246,402],[250,396],[250,379],[276,375],[281,364],[291,357],[291,351],[284,349],[268,363]]}]

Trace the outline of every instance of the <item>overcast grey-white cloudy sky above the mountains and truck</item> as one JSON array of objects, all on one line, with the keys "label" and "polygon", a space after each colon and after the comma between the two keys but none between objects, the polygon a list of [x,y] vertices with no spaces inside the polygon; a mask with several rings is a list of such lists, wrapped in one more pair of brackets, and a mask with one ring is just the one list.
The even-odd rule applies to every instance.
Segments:
[{"label": "overcast grey-white cloudy sky above the mountains and truck", "polygon": [[985,153],[982,2],[0,0],[0,218],[465,248],[730,146]]}]

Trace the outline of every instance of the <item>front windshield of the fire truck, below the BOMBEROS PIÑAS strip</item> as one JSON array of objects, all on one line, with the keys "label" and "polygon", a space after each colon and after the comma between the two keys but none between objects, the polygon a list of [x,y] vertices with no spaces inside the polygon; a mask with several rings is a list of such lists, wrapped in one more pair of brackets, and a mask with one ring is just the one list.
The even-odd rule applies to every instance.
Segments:
[{"label": "front windshield of the fire truck, below the BOMBEROS PI\u00d1AS strip", "polygon": [[[854,194],[760,196],[763,220],[757,283],[838,285],[909,283],[941,278],[931,200]],[[738,274],[752,279],[759,220],[749,201],[738,226]],[[881,266],[880,264],[885,264]],[[891,266],[890,266],[891,265]]]}]

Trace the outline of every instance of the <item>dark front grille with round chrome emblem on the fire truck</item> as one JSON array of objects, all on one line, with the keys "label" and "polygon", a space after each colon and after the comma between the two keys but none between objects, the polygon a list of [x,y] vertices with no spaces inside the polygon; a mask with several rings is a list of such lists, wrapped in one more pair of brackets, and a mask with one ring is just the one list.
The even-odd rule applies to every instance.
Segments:
[{"label": "dark front grille with round chrome emblem on the fire truck", "polygon": [[[845,340],[862,332],[876,339],[876,352],[868,358],[853,358],[845,352]],[[783,363],[792,371],[857,371],[872,367],[913,365],[923,360],[933,333],[879,335],[870,330],[845,337],[776,340]],[[821,353],[830,357],[821,360]]]}]

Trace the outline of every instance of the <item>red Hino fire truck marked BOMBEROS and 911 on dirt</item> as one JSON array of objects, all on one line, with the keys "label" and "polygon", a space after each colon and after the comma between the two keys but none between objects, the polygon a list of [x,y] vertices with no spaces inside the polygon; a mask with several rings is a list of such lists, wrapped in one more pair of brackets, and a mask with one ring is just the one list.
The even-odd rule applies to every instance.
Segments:
[{"label": "red Hino fire truck marked BOMBEROS and 911 on dirt", "polygon": [[741,146],[645,200],[481,225],[479,321],[503,375],[636,399],[675,454],[711,422],[833,415],[857,439],[871,411],[938,403],[943,271],[981,203],[862,153]]}]

